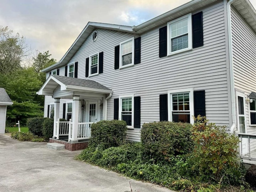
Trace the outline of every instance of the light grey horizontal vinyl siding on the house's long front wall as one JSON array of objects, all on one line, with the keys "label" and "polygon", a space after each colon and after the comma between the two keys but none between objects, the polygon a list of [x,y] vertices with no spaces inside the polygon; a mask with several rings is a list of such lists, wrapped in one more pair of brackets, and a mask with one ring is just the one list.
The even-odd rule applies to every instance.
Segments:
[{"label": "light grey horizontal vinyl siding on the house's long front wall", "polygon": [[[95,42],[92,42],[91,35],[88,36],[70,59],[70,63],[83,63],[78,65],[78,78],[85,78],[86,58],[104,51],[104,73],[89,79],[113,91],[108,100],[108,120],[114,119],[114,98],[134,94],[141,97],[141,126],[143,123],[159,121],[160,94],[167,94],[168,90],[194,88],[194,91],[205,90],[206,116],[210,122],[229,126],[231,116],[228,111],[230,101],[223,2],[202,11],[204,46],[159,58],[160,26],[140,34],[141,63],[122,70],[114,70],[114,47],[129,38],[137,38],[138,35],[97,29],[98,38]],[[61,69],[60,74],[62,71]],[[126,139],[140,141],[140,128],[127,130]]]}]

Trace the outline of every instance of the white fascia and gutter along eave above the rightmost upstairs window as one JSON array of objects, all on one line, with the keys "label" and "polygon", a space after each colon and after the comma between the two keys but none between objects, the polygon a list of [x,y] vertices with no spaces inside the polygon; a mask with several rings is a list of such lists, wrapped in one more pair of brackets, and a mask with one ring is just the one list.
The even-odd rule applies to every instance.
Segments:
[{"label": "white fascia and gutter along eave above the rightmost upstairs window", "polygon": [[177,7],[175,9],[173,9],[173,10],[170,10],[170,11],[168,11],[168,12],[166,12],[166,13],[160,15],[160,16],[157,16],[157,17],[155,17],[155,18],[153,18],[151,20],[148,20],[148,21],[146,21],[146,22],[144,22],[144,23],[142,23],[142,24],[140,24],[138,26],[133,26],[132,28],[133,28],[134,31],[139,31],[139,30],[141,30],[141,29],[143,29],[143,28],[145,28],[147,26],[150,26],[150,25],[154,24],[155,22],[158,22],[158,21],[160,21],[160,20],[162,20],[162,19],[164,19],[164,18],[166,18],[168,16],[171,16],[172,14],[174,14],[176,12],[180,12],[183,9],[187,9],[187,8],[192,7],[195,4],[198,4],[198,3],[203,2],[203,1],[205,1],[205,0],[192,0],[192,1],[190,1],[190,2],[188,2],[186,4],[183,4],[183,5]]}]

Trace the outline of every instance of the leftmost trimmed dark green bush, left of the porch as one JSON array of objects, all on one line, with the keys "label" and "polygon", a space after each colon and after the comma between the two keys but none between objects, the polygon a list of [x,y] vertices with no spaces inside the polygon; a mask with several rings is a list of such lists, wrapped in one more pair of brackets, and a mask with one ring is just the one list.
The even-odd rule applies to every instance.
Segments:
[{"label": "leftmost trimmed dark green bush, left of the porch", "polygon": [[43,129],[43,117],[34,117],[34,118],[28,118],[27,126],[28,131],[32,132],[34,135],[42,136],[42,129]]}]

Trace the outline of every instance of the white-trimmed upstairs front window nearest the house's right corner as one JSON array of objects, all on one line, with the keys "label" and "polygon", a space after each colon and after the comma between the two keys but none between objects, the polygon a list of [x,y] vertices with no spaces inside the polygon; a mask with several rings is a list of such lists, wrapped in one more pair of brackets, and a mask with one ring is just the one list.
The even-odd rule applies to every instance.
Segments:
[{"label": "white-trimmed upstairs front window nearest the house's right corner", "polygon": [[192,14],[167,23],[167,54],[192,49]]}]

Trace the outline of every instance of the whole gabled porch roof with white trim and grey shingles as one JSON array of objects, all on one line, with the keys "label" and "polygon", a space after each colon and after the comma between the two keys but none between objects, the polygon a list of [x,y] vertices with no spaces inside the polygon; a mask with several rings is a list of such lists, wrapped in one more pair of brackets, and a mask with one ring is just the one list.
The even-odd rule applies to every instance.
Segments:
[{"label": "whole gabled porch roof with white trim and grey shingles", "polygon": [[66,76],[50,75],[40,90],[38,95],[52,96],[54,90],[60,86],[60,91],[80,91],[93,93],[112,93],[110,88],[92,80],[72,78]]}]

